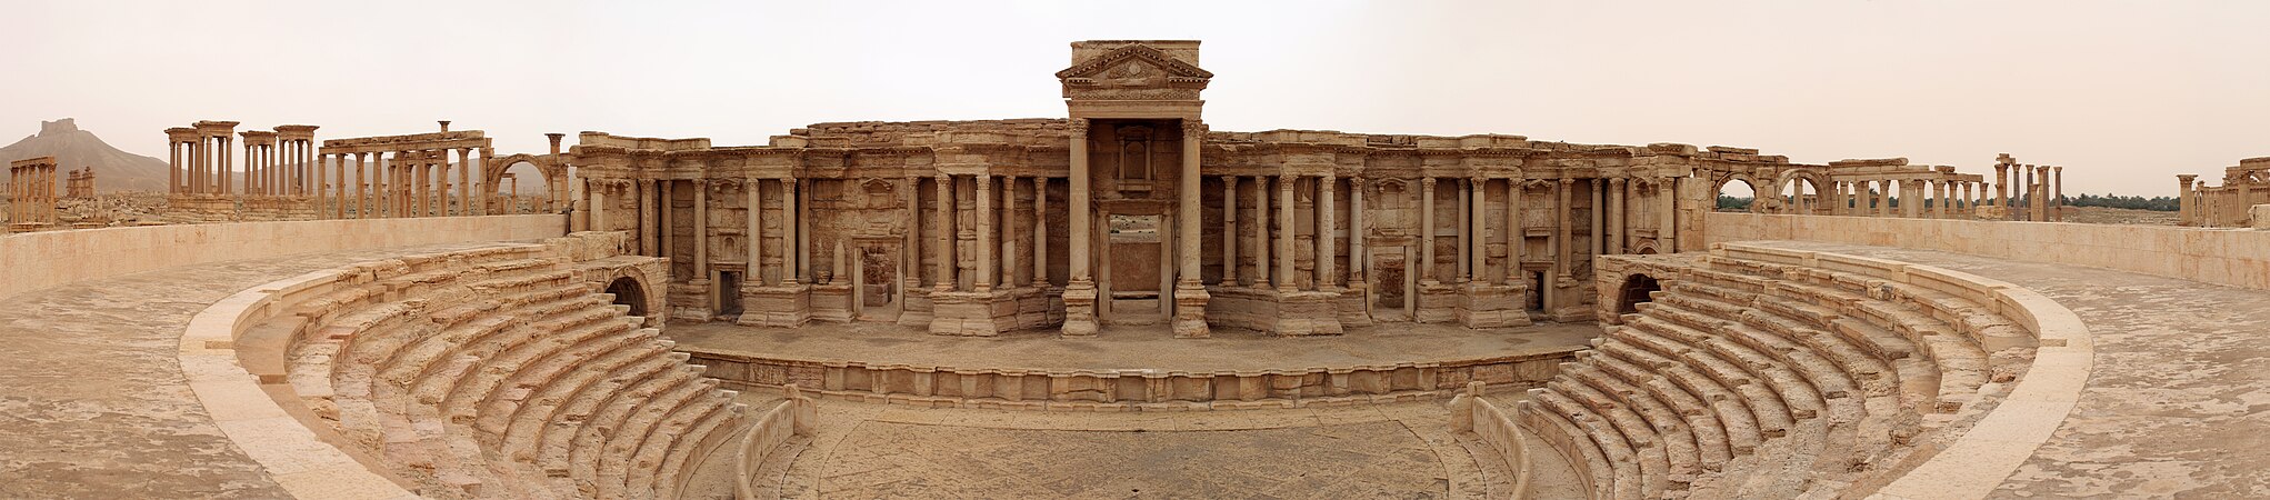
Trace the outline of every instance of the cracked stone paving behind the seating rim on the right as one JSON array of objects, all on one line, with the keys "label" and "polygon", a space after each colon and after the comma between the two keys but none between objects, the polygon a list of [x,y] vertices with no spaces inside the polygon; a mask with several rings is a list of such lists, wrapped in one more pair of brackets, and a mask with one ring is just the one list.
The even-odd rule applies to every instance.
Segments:
[{"label": "cracked stone paving behind the seating rim on the right", "polygon": [[2270,291],[1930,250],[1768,245],[2004,280],[2088,323],[2097,357],[2079,405],[1995,498],[2270,495]]}]

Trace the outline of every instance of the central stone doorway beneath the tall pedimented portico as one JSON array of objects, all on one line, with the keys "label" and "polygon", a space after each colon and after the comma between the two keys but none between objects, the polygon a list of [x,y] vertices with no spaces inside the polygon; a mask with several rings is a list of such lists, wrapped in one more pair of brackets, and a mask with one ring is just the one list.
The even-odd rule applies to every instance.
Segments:
[{"label": "central stone doorway beneath the tall pedimented portico", "polygon": [[1110,325],[1158,325],[1167,320],[1174,289],[1167,273],[1167,234],[1171,218],[1162,214],[1105,216],[1103,318]]}]

